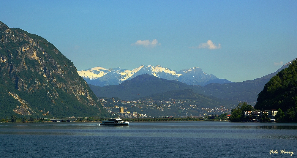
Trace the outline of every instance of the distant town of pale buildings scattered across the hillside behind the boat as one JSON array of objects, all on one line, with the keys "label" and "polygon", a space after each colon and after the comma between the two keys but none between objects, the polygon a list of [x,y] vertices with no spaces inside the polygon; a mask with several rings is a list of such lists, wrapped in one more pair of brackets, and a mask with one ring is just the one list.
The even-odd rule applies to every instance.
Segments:
[{"label": "distant town of pale buildings scattered across the hillside behind the boat", "polygon": [[[116,101],[110,98],[99,99],[103,107],[110,112],[111,115],[120,115],[127,118],[137,117],[150,117],[155,116],[153,111],[166,112],[172,108],[177,108],[180,113],[175,116],[188,117],[188,116],[208,116],[211,114],[230,113],[231,109],[221,106],[220,108],[201,108],[192,100],[137,100],[137,101]],[[153,110],[154,109],[154,110]],[[134,112],[132,112],[132,110]],[[136,113],[137,111],[138,113]],[[177,110],[176,110],[177,111]],[[159,117],[159,116],[158,116]],[[160,116],[162,117],[162,116]]]}]

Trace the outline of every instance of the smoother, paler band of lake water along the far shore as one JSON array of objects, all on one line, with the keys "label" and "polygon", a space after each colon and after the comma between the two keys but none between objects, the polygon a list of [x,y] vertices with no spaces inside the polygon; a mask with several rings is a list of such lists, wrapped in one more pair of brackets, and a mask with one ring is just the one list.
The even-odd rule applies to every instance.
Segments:
[{"label": "smoother, paler band of lake water along the far shore", "polygon": [[[267,124],[267,125],[266,125]],[[173,138],[297,139],[297,124],[230,122],[132,122],[129,126],[97,123],[3,123],[0,134],[88,135]]]}]

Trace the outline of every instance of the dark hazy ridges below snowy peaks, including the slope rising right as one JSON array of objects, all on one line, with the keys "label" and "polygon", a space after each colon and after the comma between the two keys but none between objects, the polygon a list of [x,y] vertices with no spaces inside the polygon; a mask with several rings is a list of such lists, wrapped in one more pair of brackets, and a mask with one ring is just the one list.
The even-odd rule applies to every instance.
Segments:
[{"label": "dark hazy ridges below snowy peaks, including the slope rising right", "polygon": [[[293,60],[292,60],[293,61]],[[188,85],[176,80],[166,80],[157,78],[154,75],[143,74],[131,80],[125,80],[120,85],[94,86],[89,85],[98,97],[119,97],[123,100],[132,100],[141,97],[148,97],[152,94],[163,93],[166,91],[192,89],[197,94],[212,96],[219,99],[236,100],[248,102],[255,105],[257,95],[262,91],[264,85],[279,72],[288,67],[292,62],[283,65],[276,72],[239,83],[210,83],[206,86]]]}]

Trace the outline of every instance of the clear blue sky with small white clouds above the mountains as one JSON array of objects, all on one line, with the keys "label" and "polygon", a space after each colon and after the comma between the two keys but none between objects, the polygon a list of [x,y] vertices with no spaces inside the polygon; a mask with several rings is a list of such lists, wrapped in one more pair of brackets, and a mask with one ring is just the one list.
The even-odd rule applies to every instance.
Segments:
[{"label": "clear blue sky with small white clouds above the mountains", "polygon": [[297,57],[297,1],[0,1],[0,21],[37,34],[77,69],[200,67],[233,82]]}]

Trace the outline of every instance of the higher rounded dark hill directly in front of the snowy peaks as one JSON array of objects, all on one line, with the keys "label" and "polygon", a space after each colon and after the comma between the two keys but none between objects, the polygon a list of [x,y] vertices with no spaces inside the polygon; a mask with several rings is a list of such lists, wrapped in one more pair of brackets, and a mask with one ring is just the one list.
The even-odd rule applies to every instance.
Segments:
[{"label": "higher rounded dark hill directly in front of the snowy peaks", "polygon": [[104,87],[89,86],[98,97],[119,97],[123,100],[131,100],[151,94],[181,89],[194,89],[196,93],[203,93],[201,86],[190,86],[175,80],[157,78],[149,74],[143,74],[131,80],[125,80],[120,85]]}]

